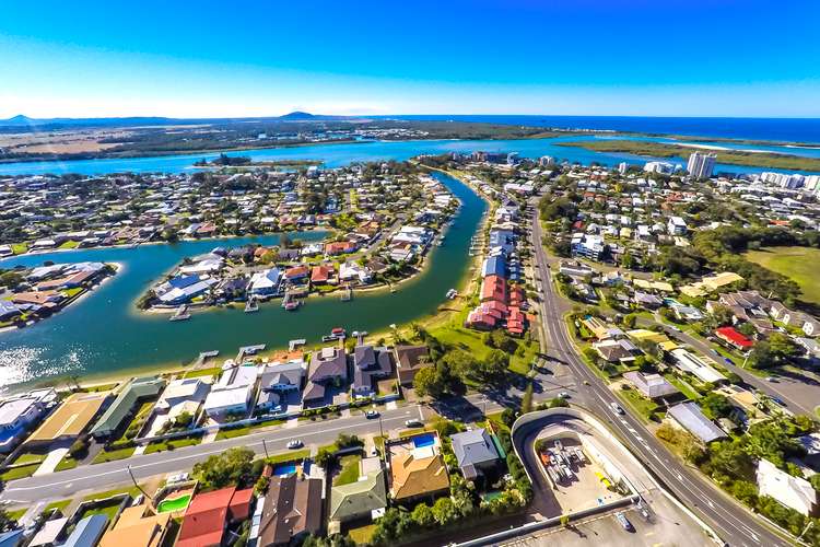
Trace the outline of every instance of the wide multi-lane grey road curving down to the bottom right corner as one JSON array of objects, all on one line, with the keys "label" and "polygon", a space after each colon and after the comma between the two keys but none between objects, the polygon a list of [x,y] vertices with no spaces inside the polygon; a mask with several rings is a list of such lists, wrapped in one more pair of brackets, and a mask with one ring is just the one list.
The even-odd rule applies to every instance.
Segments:
[{"label": "wide multi-lane grey road curving down to the bottom right corner", "polygon": [[698,516],[704,520],[722,539],[729,545],[790,545],[766,525],[758,521],[748,510],[719,491],[716,486],[678,461],[644,427],[640,419],[629,410],[623,415],[616,414],[612,403],[618,403],[616,395],[605,383],[590,371],[579,359],[575,346],[570,339],[564,323],[565,305],[557,295],[547,256],[541,245],[541,226],[537,209],[532,214],[532,243],[535,267],[540,276],[542,301],[540,317],[546,330],[549,354],[572,369],[578,381],[577,388],[586,400],[589,410],[606,419],[611,429],[632,453],[649,469],[679,501],[686,504]]}]

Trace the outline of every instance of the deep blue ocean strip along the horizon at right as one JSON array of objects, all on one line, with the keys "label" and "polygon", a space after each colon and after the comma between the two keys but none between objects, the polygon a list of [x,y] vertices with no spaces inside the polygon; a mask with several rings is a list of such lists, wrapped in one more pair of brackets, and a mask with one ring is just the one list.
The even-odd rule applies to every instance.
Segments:
[{"label": "deep blue ocean strip along the horizon at right", "polygon": [[820,143],[820,118],[676,118],[643,116],[407,115],[399,119],[485,121],[491,124],[599,129],[646,133],[723,137]]}]

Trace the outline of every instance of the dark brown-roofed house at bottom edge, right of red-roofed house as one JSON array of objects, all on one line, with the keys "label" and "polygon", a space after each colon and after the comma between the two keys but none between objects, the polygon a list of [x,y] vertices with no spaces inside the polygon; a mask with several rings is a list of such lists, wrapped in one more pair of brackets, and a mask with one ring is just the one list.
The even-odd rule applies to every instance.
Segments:
[{"label": "dark brown-roofed house at bottom edge, right of red-roofed house", "polygon": [[271,477],[259,521],[257,546],[297,544],[308,534],[318,533],[321,522],[321,479],[300,478],[295,474]]}]

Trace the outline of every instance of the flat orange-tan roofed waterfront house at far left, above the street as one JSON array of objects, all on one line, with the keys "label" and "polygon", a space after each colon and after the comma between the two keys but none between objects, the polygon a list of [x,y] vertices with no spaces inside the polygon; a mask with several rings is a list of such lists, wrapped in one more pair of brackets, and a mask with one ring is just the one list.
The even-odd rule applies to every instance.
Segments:
[{"label": "flat orange-tan roofed waterfront house at far left, above the street", "polygon": [[109,394],[110,392],[99,392],[69,395],[26,439],[25,444],[77,440],[99,412]]}]

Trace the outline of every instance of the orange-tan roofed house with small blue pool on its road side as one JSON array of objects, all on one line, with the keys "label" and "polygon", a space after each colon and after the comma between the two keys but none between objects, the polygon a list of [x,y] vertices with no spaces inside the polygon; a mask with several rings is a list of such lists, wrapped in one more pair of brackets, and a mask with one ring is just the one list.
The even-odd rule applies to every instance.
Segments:
[{"label": "orange-tan roofed house with small blue pool on its road side", "polygon": [[397,502],[432,498],[449,490],[447,466],[436,433],[422,433],[390,444],[390,496]]}]

